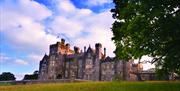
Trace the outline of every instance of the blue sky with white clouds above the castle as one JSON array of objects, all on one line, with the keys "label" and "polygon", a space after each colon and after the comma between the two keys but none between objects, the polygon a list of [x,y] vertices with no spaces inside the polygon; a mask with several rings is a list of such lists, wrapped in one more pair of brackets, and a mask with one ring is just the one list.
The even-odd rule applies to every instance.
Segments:
[{"label": "blue sky with white clouds above the castle", "polygon": [[61,38],[71,48],[101,43],[114,57],[113,7],[112,0],[0,0],[0,73],[18,80],[33,73]]}]

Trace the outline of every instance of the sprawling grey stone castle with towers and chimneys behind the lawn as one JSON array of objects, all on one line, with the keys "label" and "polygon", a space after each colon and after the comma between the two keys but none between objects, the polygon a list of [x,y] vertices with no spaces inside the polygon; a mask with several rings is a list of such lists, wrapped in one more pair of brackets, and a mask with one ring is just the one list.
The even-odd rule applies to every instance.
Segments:
[{"label": "sprawling grey stone castle with towers and chimneys behind the lawn", "polygon": [[45,54],[40,61],[39,80],[74,78],[112,81],[123,76],[126,80],[135,80],[131,72],[137,69],[142,70],[142,67],[135,66],[133,61],[106,57],[106,48],[102,48],[100,43],[95,44],[95,49],[89,46],[80,51],[78,47],[70,49],[70,44],[61,39],[61,42],[50,45],[49,55]]}]

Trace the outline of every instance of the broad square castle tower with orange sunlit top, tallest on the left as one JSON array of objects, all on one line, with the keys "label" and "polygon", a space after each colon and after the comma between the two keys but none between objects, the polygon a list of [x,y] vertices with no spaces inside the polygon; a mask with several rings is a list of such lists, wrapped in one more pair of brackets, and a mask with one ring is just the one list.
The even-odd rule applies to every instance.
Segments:
[{"label": "broad square castle tower with orange sunlit top, tallest on the left", "polygon": [[50,45],[49,60],[48,60],[48,75],[47,79],[60,79],[64,72],[64,54],[69,48],[65,45],[65,40]]}]

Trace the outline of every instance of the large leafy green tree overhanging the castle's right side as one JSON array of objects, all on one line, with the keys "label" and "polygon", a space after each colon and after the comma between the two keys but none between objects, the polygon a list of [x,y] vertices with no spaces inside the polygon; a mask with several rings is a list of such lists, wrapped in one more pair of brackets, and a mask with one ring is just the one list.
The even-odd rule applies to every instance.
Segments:
[{"label": "large leafy green tree overhanging the castle's right side", "polygon": [[157,72],[180,75],[180,1],[114,0],[112,31],[120,59],[153,57]]}]

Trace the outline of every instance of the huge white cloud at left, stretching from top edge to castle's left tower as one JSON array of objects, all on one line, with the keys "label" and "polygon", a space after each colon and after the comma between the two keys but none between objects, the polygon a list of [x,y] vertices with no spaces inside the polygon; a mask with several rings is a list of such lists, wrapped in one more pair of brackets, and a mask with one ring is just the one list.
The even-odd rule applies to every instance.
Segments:
[{"label": "huge white cloud at left, stretching from top edge to castle's left tower", "polygon": [[32,0],[5,1],[1,9],[1,34],[6,42],[25,52],[48,52],[48,45],[56,42],[56,36],[46,34],[41,22],[52,12]]}]

